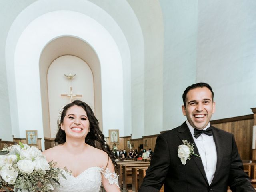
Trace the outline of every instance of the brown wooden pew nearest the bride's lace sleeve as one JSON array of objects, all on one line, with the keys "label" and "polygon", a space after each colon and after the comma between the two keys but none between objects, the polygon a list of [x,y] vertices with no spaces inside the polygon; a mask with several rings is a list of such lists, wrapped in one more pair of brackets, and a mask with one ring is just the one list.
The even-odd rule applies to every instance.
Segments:
[{"label": "brown wooden pew nearest the bride's lace sleeve", "polygon": [[122,182],[123,182],[123,191],[126,191],[127,184],[132,183],[132,167],[148,167],[150,163],[144,164],[129,164],[129,165],[122,165]]}]

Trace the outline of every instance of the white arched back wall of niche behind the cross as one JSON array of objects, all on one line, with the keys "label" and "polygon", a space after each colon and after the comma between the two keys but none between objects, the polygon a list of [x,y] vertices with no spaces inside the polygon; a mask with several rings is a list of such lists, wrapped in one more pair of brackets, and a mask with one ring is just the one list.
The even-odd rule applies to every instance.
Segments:
[{"label": "white arched back wall of niche behind the cross", "polygon": [[[76,74],[71,82],[64,74]],[[60,97],[60,94],[70,94],[70,86],[73,94],[82,94],[82,97],[74,100],[86,102],[94,111],[94,80],[89,66],[82,59],[66,55],[54,60],[48,69],[48,100],[50,115],[50,138],[55,138],[58,131],[58,112],[66,104],[70,103],[70,98]]]}]

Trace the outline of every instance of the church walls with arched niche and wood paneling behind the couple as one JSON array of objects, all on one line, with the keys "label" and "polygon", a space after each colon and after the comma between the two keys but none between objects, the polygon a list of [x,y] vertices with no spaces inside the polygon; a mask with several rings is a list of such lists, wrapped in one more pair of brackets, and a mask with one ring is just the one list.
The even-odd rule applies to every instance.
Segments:
[{"label": "church walls with arched niche and wood paneling behind the couple", "polygon": [[186,120],[186,87],[206,82],[216,102],[210,123],[234,134],[243,160],[256,160],[255,8],[254,0],[0,1],[0,149],[53,147],[58,111],[82,100],[110,148],[153,150]]}]

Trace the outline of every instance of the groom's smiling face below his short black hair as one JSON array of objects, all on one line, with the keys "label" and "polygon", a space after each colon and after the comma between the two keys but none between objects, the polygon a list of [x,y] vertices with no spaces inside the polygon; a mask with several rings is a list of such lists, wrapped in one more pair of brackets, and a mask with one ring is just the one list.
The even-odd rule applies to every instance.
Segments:
[{"label": "groom's smiling face below his short black hair", "polygon": [[182,106],[182,112],[187,116],[188,122],[196,129],[204,129],[215,111],[215,103],[212,93],[206,87],[198,87],[188,91],[186,95],[186,107]]}]

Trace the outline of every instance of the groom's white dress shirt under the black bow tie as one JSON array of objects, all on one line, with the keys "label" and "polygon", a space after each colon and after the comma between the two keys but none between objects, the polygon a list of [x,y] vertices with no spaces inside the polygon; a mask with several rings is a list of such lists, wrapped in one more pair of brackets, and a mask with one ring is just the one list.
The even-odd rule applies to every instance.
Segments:
[{"label": "groom's white dress shirt under the black bow tie", "polygon": [[[194,136],[194,128],[190,125],[188,120],[186,121],[188,128],[193,136],[194,144],[198,148],[198,152],[201,156],[201,160],[204,165],[204,171],[208,180],[209,185],[212,183],[212,179],[215,174],[216,164],[217,164],[217,150],[213,136],[206,135],[202,133],[197,139]],[[204,128],[206,130],[210,127],[210,123]]]}]

